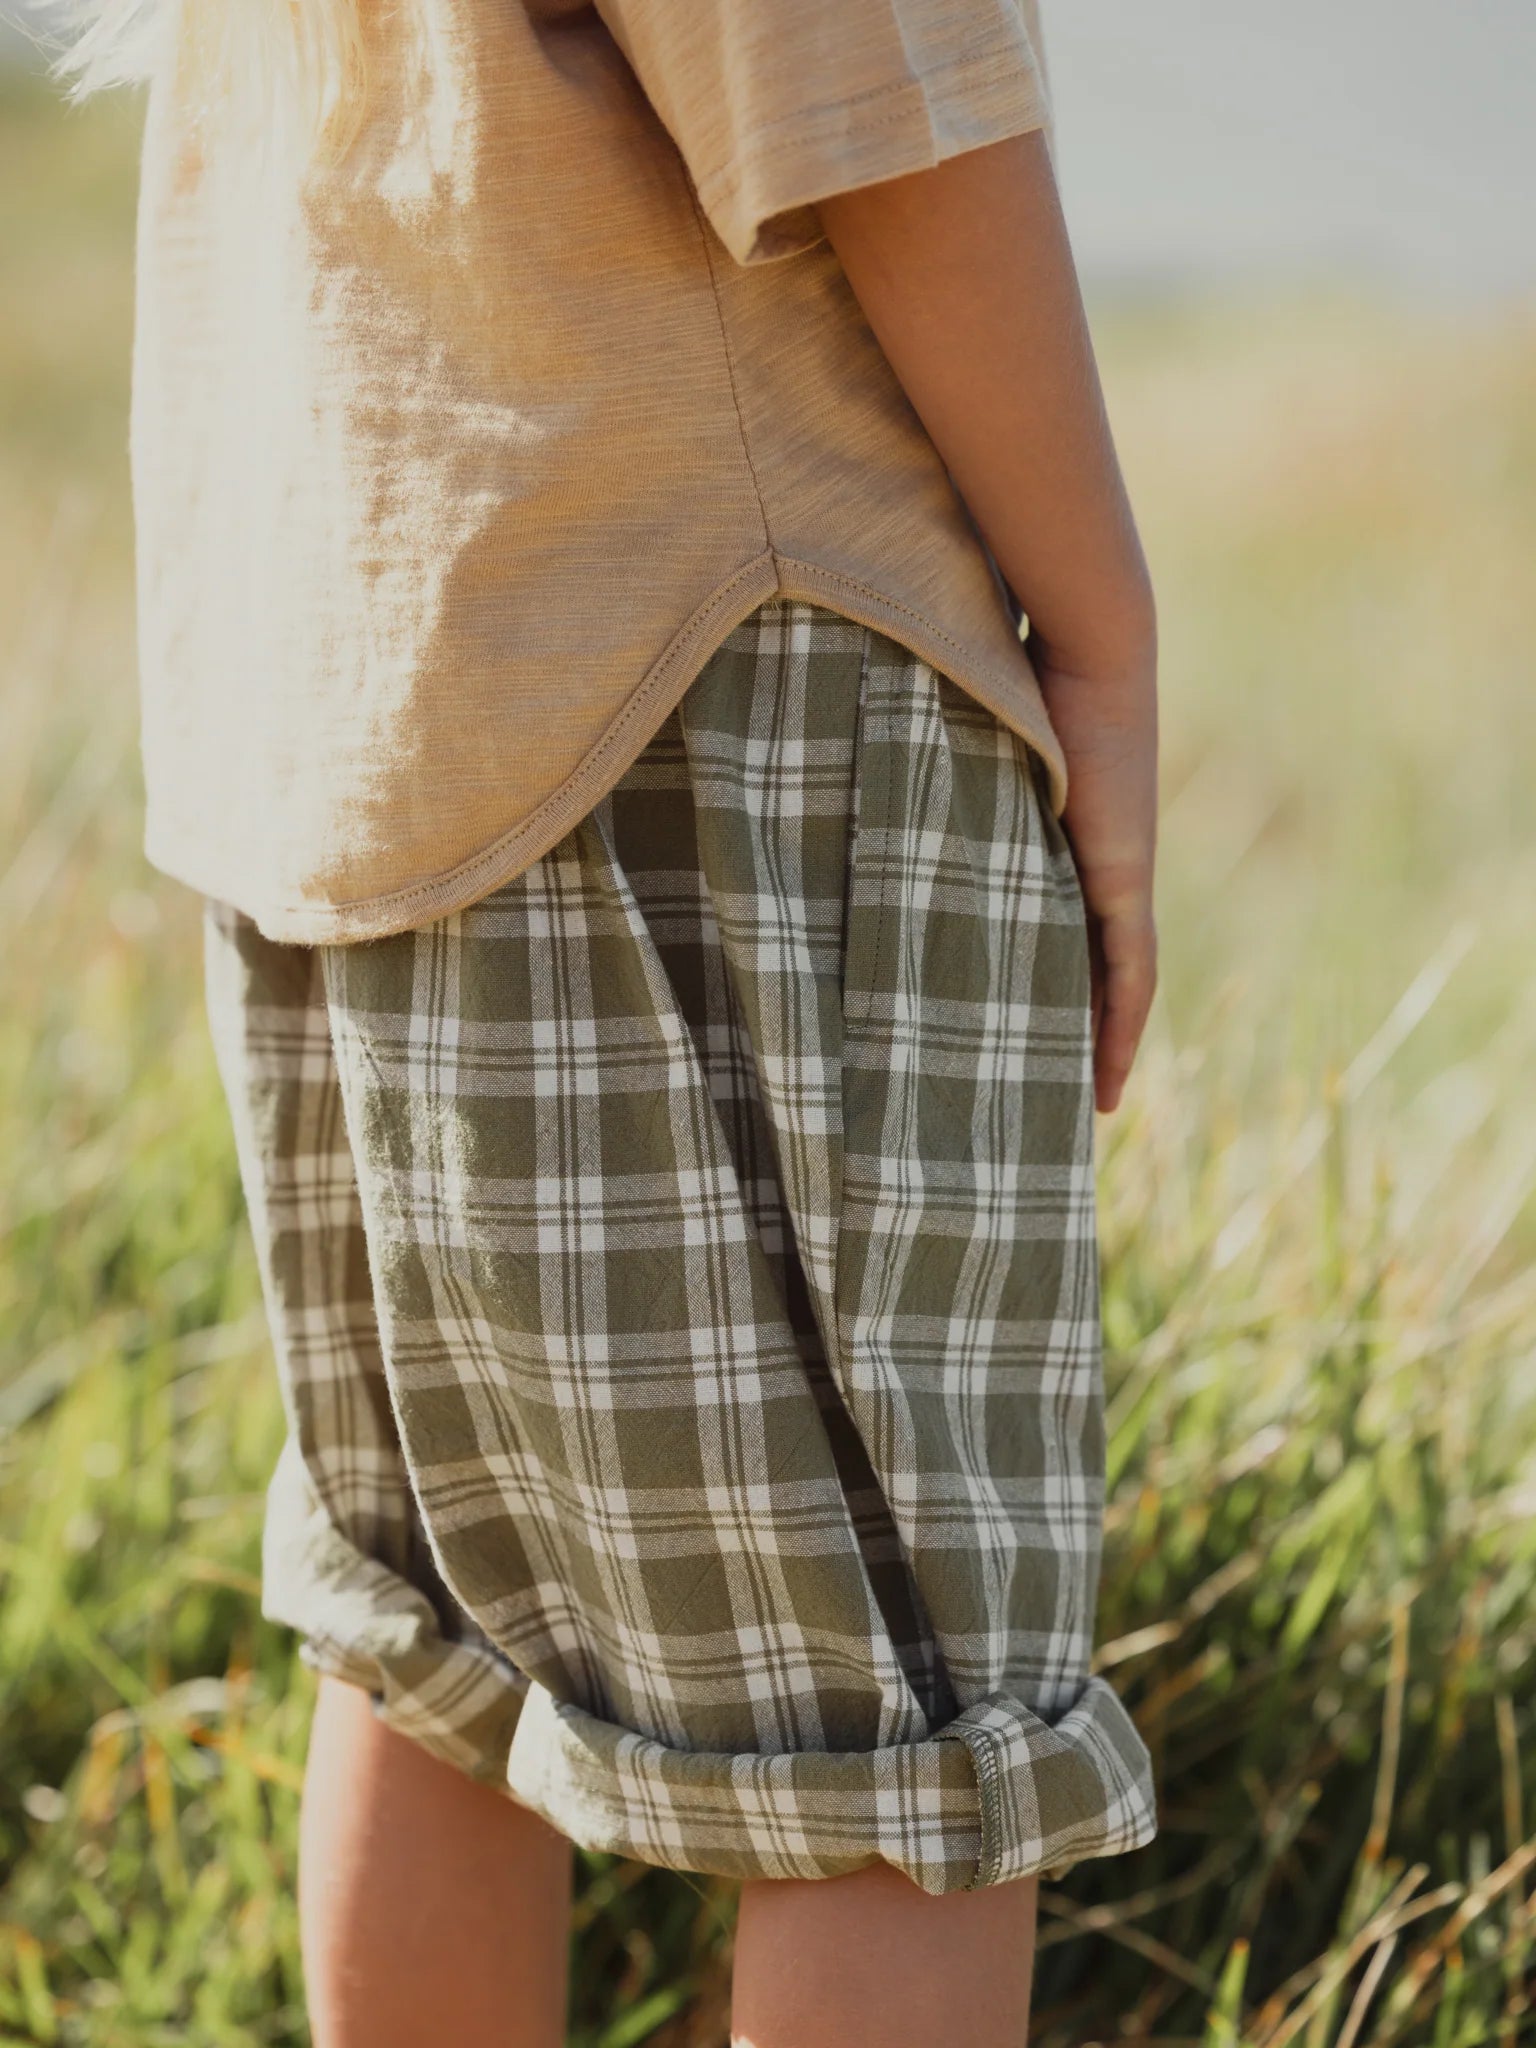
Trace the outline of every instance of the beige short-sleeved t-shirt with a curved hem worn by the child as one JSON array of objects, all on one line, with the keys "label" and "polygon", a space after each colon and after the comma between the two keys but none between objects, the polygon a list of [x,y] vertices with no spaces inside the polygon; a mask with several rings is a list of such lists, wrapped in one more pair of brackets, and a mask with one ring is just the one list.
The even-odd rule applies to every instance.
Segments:
[{"label": "beige short-sleeved t-shirt with a curved hem worn by the child", "polygon": [[[1042,127],[1032,0],[365,6],[350,152],[143,143],[150,860],[272,938],[508,881],[754,606],[1061,750],[815,201]],[[408,23],[416,29],[408,29]]]}]

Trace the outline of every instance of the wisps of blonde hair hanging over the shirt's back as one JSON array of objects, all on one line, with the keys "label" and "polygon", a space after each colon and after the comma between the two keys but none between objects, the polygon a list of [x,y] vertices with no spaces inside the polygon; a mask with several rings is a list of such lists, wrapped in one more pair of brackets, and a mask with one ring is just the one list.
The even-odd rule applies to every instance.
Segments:
[{"label": "wisps of blonde hair hanging over the shirt's back", "polygon": [[80,0],[53,72],[72,98],[172,82],[186,106],[322,154],[346,147],[367,92],[358,0]]}]

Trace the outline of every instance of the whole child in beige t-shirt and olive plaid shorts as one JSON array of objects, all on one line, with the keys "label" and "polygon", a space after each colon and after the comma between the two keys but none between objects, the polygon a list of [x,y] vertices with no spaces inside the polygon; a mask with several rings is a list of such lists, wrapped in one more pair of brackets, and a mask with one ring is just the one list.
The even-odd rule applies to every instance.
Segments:
[{"label": "whole child in beige t-shirt and olive plaid shorts", "polygon": [[315,2040],[559,2042],[573,1839],[741,1880],[739,2042],[1016,2048],[1038,1872],[1155,1829],[1090,1675],[1155,633],[1038,25],[291,14],[76,61],[150,37],[147,852],[289,1417]]}]

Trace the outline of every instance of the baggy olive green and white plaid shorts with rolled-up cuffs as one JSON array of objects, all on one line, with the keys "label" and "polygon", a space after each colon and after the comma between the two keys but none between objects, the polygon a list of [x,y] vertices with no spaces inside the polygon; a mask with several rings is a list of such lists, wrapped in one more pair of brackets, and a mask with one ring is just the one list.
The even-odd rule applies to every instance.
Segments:
[{"label": "baggy olive green and white plaid shorts with rolled-up cuffs", "polygon": [[772,602],[483,901],[207,930],[311,1661],[686,1870],[944,1892],[1153,1835],[1090,1675],[1087,956],[1020,739]]}]

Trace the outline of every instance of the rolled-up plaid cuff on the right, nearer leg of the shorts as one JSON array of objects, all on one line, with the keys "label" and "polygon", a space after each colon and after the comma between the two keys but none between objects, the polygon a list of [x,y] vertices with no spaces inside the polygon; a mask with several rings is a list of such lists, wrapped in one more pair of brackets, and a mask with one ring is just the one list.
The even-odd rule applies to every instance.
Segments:
[{"label": "rolled-up plaid cuff on the right, nearer leg of the shorts", "polygon": [[1049,1724],[1008,1694],[920,1743],[672,1749],[530,1686],[508,1786],[586,1849],[721,1878],[834,1878],[887,1862],[963,1892],[1151,1841],[1151,1763],[1104,1679]]}]

